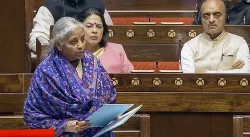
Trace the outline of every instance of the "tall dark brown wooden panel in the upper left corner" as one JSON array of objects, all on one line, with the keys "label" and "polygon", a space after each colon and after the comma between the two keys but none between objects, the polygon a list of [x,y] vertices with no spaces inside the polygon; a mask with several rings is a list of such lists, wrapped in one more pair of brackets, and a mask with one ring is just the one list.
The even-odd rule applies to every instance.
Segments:
[{"label": "tall dark brown wooden panel in the upper left corner", "polygon": [[[0,73],[30,71],[28,48],[25,45],[25,5],[23,0],[0,1],[1,39]],[[13,10],[15,17],[12,16]]]}]

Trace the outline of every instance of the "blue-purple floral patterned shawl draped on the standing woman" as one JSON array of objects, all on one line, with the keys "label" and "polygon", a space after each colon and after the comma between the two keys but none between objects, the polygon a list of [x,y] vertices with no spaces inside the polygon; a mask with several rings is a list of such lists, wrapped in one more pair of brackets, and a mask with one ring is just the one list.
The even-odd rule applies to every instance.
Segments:
[{"label": "blue-purple floral patterned shawl draped on the standing woman", "polygon": [[[36,68],[24,105],[24,122],[30,128],[54,128],[55,136],[75,136],[64,132],[67,120],[83,121],[105,103],[115,103],[116,90],[101,63],[90,52],[81,59],[82,79],[67,59],[54,49]],[[90,128],[77,136],[91,137],[100,128]],[[112,137],[108,132],[103,137]]]}]

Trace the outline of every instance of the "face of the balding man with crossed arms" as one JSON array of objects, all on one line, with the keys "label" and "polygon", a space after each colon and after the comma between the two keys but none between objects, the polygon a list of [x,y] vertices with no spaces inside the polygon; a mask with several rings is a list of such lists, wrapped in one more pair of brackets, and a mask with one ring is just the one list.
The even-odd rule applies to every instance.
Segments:
[{"label": "face of the balding man with crossed arms", "polygon": [[218,37],[225,28],[225,11],[225,5],[220,0],[207,0],[201,7],[203,30],[213,39]]}]

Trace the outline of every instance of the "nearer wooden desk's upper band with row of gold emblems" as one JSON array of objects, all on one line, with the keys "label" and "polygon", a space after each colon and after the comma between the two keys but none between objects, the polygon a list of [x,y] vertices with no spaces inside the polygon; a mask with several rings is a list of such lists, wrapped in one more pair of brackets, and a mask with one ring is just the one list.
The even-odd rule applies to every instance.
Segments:
[{"label": "nearer wooden desk's upper band with row of gold emblems", "polygon": [[[119,92],[220,92],[220,93],[248,93],[250,87],[242,86],[242,82],[249,83],[249,74],[110,74],[111,78],[118,81],[116,89]],[[1,74],[0,92],[14,93],[27,92],[32,74]],[[139,79],[140,84],[132,85],[134,78]],[[160,80],[161,85],[156,86],[153,81]],[[176,79],[182,80],[182,85],[175,84]],[[204,80],[203,86],[197,85],[197,80]],[[226,81],[225,86],[219,86],[220,79]],[[244,79],[244,80],[243,80]],[[24,83],[24,84],[22,84]],[[24,91],[22,91],[24,89]]]}]

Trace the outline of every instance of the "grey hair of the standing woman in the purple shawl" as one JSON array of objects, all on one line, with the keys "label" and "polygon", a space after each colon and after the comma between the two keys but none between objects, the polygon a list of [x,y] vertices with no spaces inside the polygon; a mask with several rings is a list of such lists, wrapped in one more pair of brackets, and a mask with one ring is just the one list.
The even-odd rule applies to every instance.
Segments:
[{"label": "grey hair of the standing woman in the purple shawl", "polygon": [[48,49],[42,54],[42,58],[46,58],[50,52],[55,48],[55,45],[69,37],[70,34],[78,29],[79,27],[83,28],[83,24],[71,17],[63,17],[59,19],[54,25],[52,36],[50,40]]}]

